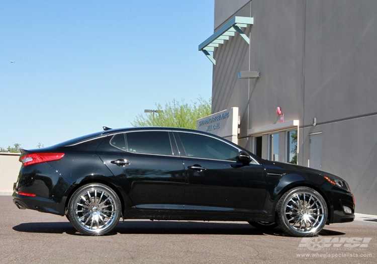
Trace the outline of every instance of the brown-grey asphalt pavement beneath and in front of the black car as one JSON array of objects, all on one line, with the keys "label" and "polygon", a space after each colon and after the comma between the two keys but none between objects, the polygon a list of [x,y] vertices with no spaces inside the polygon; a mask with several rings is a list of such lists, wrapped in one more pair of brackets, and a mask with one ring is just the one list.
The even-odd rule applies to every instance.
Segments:
[{"label": "brown-grey asphalt pavement beneath and in front of the black car", "polygon": [[377,217],[357,215],[319,236],[263,232],[244,222],[120,221],[101,237],[65,217],[19,210],[0,196],[0,263],[377,263]]}]

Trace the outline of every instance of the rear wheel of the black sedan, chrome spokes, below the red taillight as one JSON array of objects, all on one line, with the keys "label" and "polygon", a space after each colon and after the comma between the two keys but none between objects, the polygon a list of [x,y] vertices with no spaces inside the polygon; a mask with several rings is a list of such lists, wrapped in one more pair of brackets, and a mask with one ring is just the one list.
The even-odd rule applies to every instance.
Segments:
[{"label": "rear wheel of the black sedan, chrome spokes, below the red taillight", "polygon": [[87,184],[72,195],[67,218],[84,235],[103,235],[118,224],[121,210],[113,189],[103,184]]}]

